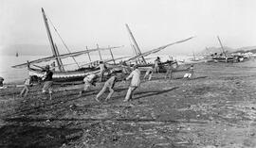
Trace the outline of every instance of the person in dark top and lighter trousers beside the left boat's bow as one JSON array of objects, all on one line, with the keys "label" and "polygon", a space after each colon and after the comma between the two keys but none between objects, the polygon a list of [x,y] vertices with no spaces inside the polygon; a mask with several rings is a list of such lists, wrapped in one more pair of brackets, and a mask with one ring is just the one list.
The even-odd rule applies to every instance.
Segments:
[{"label": "person in dark top and lighter trousers beside the left boat's bow", "polygon": [[42,92],[46,93],[46,91],[48,91],[49,95],[50,95],[50,100],[52,99],[52,85],[53,85],[53,81],[52,81],[52,75],[53,73],[50,71],[49,65],[46,65],[45,70],[43,70],[43,72],[45,72],[44,76],[42,77],[42,80],[44,81],[44,87]]}]

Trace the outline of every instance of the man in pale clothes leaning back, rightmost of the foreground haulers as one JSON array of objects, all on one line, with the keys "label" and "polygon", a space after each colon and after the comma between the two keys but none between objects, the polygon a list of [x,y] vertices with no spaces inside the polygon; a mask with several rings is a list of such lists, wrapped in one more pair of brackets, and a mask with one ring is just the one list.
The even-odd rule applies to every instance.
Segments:
[{"label": "man in pale clothes leaning back, rightmost of the foreground haulers", "polygon": [[127,101],[131,100],[134,91],[140,85],[140,78],[139,78],[140,71],[137,69],[137,65],[135,65],[133,68],[134,68],[134,71],[125,79],[125,80],[128,80],[128,79],[132,78],[132,81],[129,86],[129,89],[127,90],[127,93],[126,93],[126,96],[125,96],[125,99],[123,100],[123,102],[127,102]]}]

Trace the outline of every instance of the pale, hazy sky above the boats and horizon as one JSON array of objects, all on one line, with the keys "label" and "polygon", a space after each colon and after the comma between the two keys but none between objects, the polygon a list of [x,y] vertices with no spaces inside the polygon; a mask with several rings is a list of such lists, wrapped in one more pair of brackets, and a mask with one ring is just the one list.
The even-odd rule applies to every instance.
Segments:
[{"label": "pale, hazy sky above the boats and horizon", "polygon": [[[131,53],[128,24],[142,52],[183,40],[160,54],[188,54],[217,46],[256,45],[255,0],[0,0],[0,50],[13,45],[46,45],[41,8],[70,47],[119,46]],[[54,41],[62,44],[51,27]],[[60,45],[61,53],[66,53]],[[44,49],[42,53],[44,53]]]}]

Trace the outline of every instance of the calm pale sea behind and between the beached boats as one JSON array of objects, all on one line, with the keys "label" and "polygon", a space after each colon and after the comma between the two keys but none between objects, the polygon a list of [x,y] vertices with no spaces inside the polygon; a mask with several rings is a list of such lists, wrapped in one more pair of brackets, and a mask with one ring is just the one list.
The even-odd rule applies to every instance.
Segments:
[{"label": "calm pale sea behind and between the beached boats", "polygon": [[[101,58],[102,59],[111,59],[110,55],[101,55],[101,58],[99,55],[90,55],[90,57],[91,57],[92,61],[101,60]],[[115,56],[115,58],[121,58],[121,57],[127,57],[127,55],[119,55],[119,56],[116,55]],[[132,56],[130,56],[130,57],[132,57]],[[167,59],[170,59],[171,56],[154,54],[154,55],[150,55],[150,56],[146,57],[146,60],[148,62],[153,63],[156,57],[160,57],[161,61],[166,61]],[[180,55],[172,56],[172,57],[177,60],[187,60],[189,58],[188,56],[180,56]],[[5,79],[4,83],[22,84],[23,81],[25,80],[25,78],[27,78],[27,76],[28,76],[27,68],[26,67],[25,68],[11,68],[11,66],[25,63],[25,62],[27,62],[27,60],[30,61],[30,60],[35,60],[38,58],[46,58],[46,56],[19,56],[19,57],[0,56],[0,76]],[[87,55],[82,55],[80,57],[77,57],[77,58],[75,58],[75,60],[76,60],[76,62],[79,63],[79,65],[90,62]],[[121,59],[119,59],[119,60],[121,60]],[[122,60],[124,60],[124,59],[122,59]],[[50,64],[51,62],[52,61],[42,62],[42,63],[38,63],[36,65],[45,67],[46,64]],[[119,61],[117,61],[117,62],[119,62]],[[65,66],[65,70],[78,69],[78,66],[75,64],[75,61],[73,58],[64,58],[63,63],[64,63],[64,65],[73,63],[71,65]]]}]

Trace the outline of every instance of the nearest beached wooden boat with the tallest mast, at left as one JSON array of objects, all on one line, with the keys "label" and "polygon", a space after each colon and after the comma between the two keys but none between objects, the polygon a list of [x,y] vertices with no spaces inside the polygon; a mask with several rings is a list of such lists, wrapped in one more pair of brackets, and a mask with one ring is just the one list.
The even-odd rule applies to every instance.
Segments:
[{"label": "nearest beached wooden boat with the tallest mast, at left", "polygon": [[[98,45],[97,48],[95,48],[95,49],[88,49],[86,47],[86,50],[71,53],[70,50],[68,49],[68,47],[66,46],[66,44],[64,43],[64,41],[62,40],[60,34],[57,32],[57,34],[59,35],[59,37],[61,38],[61,40],[64,43],[64,47],[69,52],[67,54],[60,55],[59,50],[57,48],[57,45],[53,41],[50,29],[49,29],[49,25],[48,25],[48,19],[46,17],[46,13],[45,13],[44,8],[42,8],[42,14],[43,14],[44,22],[45,22],[45,25],[46,25],[46,32],[47,32],[48,40],[50,42],[50,47],[51,47],[51,51],[52,51],[53,56],[27,61],[27,62],[22,63],[22,64],[11,66],[12,68],[26,68],[27,67],[28,74],[30,76],[36,76],[38,78],[42,78],[43,75],[44,75],[44,72],[43,72],[44,67],[41,67],[41,66],[38,66],[38,65],[35,65],[35,64],[55,60],[57,62],[56,68],[58,69],[58,71],[55,71],[55,70],[53,71],[53,80],[54,81],[76,81],[76,80],[82,80],[82,78],[84,78],[88,74],[100,74],[100,69],[95,67],[95,66],[92,66],[89,63],[83,64],[81,66],[76,61],[75,57],[87,54],[90,61],[91,61],[91,58],[90,58],[90,53],[91,52],[97,52],[98,51],[99,54],[100,54],[100,57],[101,57],[101,51],[109,50],[111,55],[112,55],[112,59],[106,60],[105,62],[110,62],[110,61],[115,62],[115,59],[114,59],[113,54],[112,54],[112,49],[116,49],[116,48],[119,48],[121,46],[100,48],[99,45]],[[54,27],[54,29],[55,29],[55,31],[57,31],[57,29],[55,27]],[[66,71],[65,68],[64,68],[65,65],[63,64],[63,61],[62,61],[63,58],[73,58],[73,60],[75,61],[75,64],[78,66],[78,69],[74,70],[74,71]],[[101,60],[103,60],[103,59],[101,58]],[[36,68],[32,68],[32,66],[34,66]],[[109,64],[109,67],[110,67],[112,73],[116,73],[116,72],[119,73],[121,71],[121,68],[117,67],[114,64],[113,65]],[[55,69],[55,67],[52,67],[52,68]]]}]

